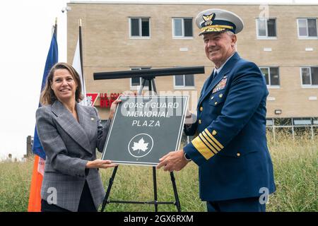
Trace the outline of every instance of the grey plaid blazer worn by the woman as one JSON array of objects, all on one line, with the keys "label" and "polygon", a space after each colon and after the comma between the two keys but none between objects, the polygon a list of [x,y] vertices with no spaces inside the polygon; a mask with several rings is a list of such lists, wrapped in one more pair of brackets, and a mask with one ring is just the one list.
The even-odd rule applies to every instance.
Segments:
[{"label": "grey plaid blazer worn by the woman", "polygon": [[110,120],[103,128],[95,107],[76,103],[76,110],[79,123],[58,100],[37,109],[37,134],[47,155],[41,197],[66,210],[77,211],[87,181],[98,209],[105,189],[98,169],[86,169],[86,163],[96,159],[96,148],[102,152]]}]

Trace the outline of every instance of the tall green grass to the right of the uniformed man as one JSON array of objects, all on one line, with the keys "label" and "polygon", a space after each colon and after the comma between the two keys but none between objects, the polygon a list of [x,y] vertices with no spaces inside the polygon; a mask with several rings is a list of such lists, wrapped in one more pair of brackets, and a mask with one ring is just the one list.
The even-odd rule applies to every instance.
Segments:
[{"label": "tall green grass to the right of the uniformed man", "polygon": [[269,136],[277,190],[269,211],[318,211],[318,139],[308,137]]}]

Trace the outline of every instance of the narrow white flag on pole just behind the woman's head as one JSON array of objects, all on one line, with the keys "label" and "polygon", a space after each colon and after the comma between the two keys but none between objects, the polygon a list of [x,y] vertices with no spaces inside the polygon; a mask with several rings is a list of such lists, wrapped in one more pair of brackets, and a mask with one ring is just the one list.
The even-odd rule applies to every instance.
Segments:
[{"label": "narrow white flag on pole just behind the woman's head", "polygon": [[85,85],[85,78],[83,75],[83,54],[82,54],[82,25],[81,20],[79,20],[78,26],[78,40],[76,44],[76,49],[73,58],[73,68],[77,71],[80,80],[81,80],[81,87],[82,87],[82,95],[83,100],[79,103],[80,105],[88,106],[87,96],[86,96],[86,85]]}]

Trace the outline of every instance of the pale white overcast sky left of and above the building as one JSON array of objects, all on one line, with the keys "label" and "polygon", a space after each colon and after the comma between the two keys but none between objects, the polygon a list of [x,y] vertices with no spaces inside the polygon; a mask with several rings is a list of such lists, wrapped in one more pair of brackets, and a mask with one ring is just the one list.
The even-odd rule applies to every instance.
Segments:
[{"label": "pale white overcast sky left of and above the building", "polygon": [[[136,0],[131,1],[136,2]],[[138,2],[141,1],[151,0]],[[40,98],[42,74],[55,18],[58,24],[59,61],[67,59],[67,15],[66,12],[61,12],[67,2],[69,1],[15,0],[0,3],[0,97],[5,104],[0,108],[0,160],[4,160],[9,153],[19,160],[26,154],[26,137],[33,136],[35,111]],[[155,0],[155,2],[169,2],[169,0]],[[175,0],[174,2],[240,3],[243,1]],[[246,0],[244,2],[318,4],[318,0]]]}]

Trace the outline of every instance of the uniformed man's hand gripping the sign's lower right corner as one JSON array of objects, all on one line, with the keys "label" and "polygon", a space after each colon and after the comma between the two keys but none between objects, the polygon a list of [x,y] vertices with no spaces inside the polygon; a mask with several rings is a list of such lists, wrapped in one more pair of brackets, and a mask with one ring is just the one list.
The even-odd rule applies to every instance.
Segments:
[{"label": "uniformed man's hand gripping the sign's lower right corner", "polygon": [[157,169],[160,169],[164,166],[164,171],[179,171],[183,169],[188,164],[188,160],[184,157],[184,151],[176,150],[172,151],[170,153],[167,153],[167,155],[161,157],[159,159],[159,164],[157,165]]}]

